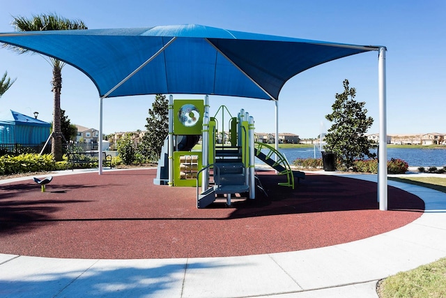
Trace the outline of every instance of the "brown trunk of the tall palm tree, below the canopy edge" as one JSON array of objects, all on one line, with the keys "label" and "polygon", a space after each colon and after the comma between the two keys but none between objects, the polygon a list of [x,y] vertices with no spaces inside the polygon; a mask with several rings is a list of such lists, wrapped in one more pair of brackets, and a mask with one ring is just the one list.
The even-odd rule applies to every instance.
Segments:
[{"label": "brown trunk of the tall palm tree, below the canopy edge", "polygon": [[[59,62],[59,63],[57,63]],[[53,137],[51,153],[55,161],[62,161],[62,131],[61,131],[61,89],[62,89],[62,69],[60,61],[54,63],[52,91],[54,94],[53,105]]]}]

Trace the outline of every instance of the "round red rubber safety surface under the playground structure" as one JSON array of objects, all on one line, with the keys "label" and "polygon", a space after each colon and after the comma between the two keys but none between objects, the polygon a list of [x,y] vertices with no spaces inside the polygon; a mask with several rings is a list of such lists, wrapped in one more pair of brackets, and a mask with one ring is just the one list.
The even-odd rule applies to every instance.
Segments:
[{"label": "round red rubber safety surface under the playground structure", "polygon": [[156,170],[32,177],[0,186],[0,253],[52,258],[196,258],[298,251],[364,239],[406,225],[424,202],[389,187],[307,174],[295,190],[260,172],[268,197],[196,208],[196,188],[157,186]]}]

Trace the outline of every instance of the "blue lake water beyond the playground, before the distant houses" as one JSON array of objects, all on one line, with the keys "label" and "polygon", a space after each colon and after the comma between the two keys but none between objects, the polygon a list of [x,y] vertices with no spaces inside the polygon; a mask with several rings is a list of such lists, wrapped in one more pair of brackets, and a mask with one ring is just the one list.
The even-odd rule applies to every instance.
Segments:
[{"label": "blue lake water beyond the playground, before the distant houses", "polygon": [[[289,163],[297,158],[321,158],[318,148],[286,148],[279,149],[286,156]],[[376,150],[375,150],[376,152]],[[446,149],[387,149],[387,158],[400,158],[410,167],[443,167],[446,166]]]}]

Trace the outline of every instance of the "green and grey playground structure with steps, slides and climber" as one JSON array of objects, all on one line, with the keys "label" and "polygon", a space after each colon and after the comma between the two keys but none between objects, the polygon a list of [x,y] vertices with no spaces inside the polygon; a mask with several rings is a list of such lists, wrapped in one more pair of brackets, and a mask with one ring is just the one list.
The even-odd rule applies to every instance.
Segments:
[{"label": "green and grey playground structure with steps, slides and climber", "polygon": [[[162,146],[154,184],[196,186],[197,208],[204,208],[217,198],[224,198],[231,206],[234,195],[254,200],[259,184],[256,157],[286,176],[282,186],[294,188],[295,178],[305,179],[303,172],[291,170],[286,157],[274,147],[255,142],[254,117],[249,113],[242,109],[233,117],[222,105],[211,117],[209,107],[208,96],[204,100],[174,100],[169,96],[169,135]],[[192,150],[200,136],[201,151]]]}]

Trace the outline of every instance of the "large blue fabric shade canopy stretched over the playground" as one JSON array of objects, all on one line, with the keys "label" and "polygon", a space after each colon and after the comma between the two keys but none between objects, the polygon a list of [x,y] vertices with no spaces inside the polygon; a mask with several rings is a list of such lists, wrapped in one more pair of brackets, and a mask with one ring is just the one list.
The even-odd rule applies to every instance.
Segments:
[{"label": "large blue fabric shade canopy stretched over the playground", "polygon": [[0,42],[79,68],[101,97],[215,94],[278,100],[280,89],[294,75],[378,50],[195,24],[0,33]]}]

